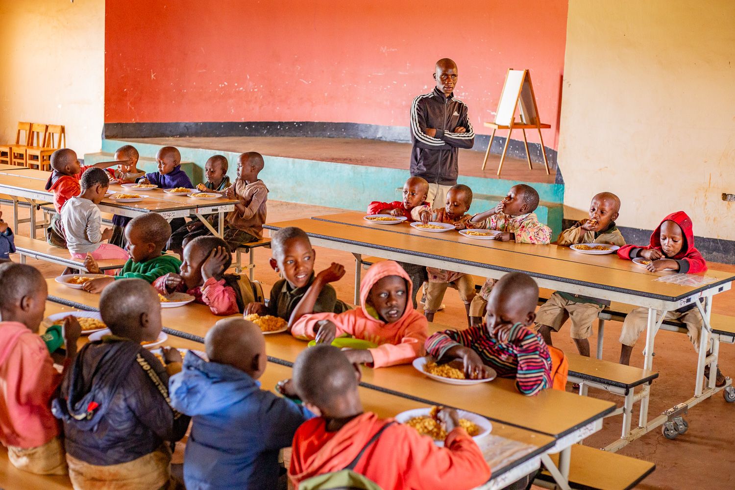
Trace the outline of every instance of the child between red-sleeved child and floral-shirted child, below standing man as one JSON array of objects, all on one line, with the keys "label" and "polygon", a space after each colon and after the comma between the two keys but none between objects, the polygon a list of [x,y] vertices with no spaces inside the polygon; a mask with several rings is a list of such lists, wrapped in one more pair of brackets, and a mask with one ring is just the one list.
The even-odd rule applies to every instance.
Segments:
[{"label": "child between red-sleeved child and floral-shirted child, below standing man", "polygon": [[[472,190],[464,184],[456,184],[447,192],[446,206],[442,209],[434,209],[433,215],[428,206],[420,211],[423,223],[436,221],[439,223],[450,223],[454,228],[463,230],[465,228],[478,228],[470,222],[472,216],[467,211],[472,204]],[[431,219],[429,219],[431,217]],[[426,283],[424,292],[426,300],[423,314],[429,322],[434,321],[434,314],[440,309],[442,299],[447,287],[451,286],[459,292],[459,298],[465,303],[467,317],[470,315],[470,303],[475,297],[475,282],[469,274],[456,273],[451,270],[426,267],[429,281]]]}]

